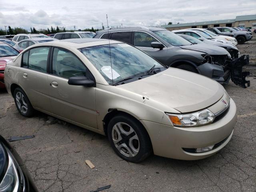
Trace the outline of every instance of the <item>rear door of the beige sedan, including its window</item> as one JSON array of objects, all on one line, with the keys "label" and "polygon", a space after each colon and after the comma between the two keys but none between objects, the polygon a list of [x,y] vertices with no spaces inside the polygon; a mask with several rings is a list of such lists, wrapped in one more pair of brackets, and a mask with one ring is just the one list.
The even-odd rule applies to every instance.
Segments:
[{"label": "rear door of the beige sedan, including its window", "polygon": [[36,47],[22,54],[18,81],[35,108],[51,112],[47,63],[50,47]]}]

